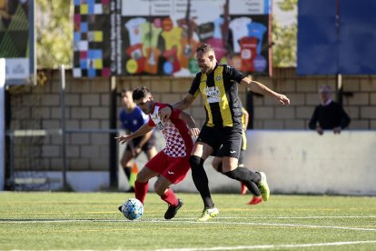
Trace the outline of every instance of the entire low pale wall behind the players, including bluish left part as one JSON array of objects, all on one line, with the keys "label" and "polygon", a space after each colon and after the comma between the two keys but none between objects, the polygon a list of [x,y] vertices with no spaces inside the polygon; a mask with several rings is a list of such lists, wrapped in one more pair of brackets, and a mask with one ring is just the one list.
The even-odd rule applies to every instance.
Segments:
[{"label": "entire low pale wall behind the players, including bluish left part", "polygon": [[[157,133],[158,150],[164,146]],[[376,132],[348,131],[341,135],[325,132],[291,130],[249,130],[245,166],[262,171],[268,177],[272,194],[326,194],[376,196]],[[124,146],[120,148],[120,153]],[[205,162],[212,192],[238,193],[239,182],[217,173],[211,166],[213,157]],[[140,168],[146,163],[141,156]],[[120,166],[119,166],[120,167]],[[59,178],[61,173],[49,172]],[[108,172],[68,172],[67,181],[75,191],[98,191],[109,186]],[[119,168],[119,191],[128,189],[124,172]],[[153,193],[155,178],[150,181]],[[61,181],[51,189],[62,186]],[[191,172],[182,183],[173,186],[176,192],[197,193]]]}]

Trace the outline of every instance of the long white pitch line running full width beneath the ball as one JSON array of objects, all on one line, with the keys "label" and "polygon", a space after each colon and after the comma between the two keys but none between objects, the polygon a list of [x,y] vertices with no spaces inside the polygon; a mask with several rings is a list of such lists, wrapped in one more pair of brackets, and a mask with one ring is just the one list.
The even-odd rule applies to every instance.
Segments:
[{"label": "long white pitch line running full width beneath the ball", "polygon": [[[217,219],[220,219],[219,217]],[[185,224],[220,224],[220,225],[252,225],[252,226],[292,226],[292,227],[306,227],[306,228],[331,228],[342,230],[358,230],[358,231],[376,231],[376,228],[362,228],[362,227],[348,227],[348,226],[316,226],[316,225],[302,225],[302,224],[282,224],[282,223],[254,223],[254,222],[223,222],[223,221],[184,221],[184,220],[163,220],[163,219],[142,219],[136,221],[129,221],[126,219],[1,219],[0,223],[71,223],[71,222],[125,222],[125,223],[137,223],[137,222],[151,222],[151,223],[185,223]]]}]

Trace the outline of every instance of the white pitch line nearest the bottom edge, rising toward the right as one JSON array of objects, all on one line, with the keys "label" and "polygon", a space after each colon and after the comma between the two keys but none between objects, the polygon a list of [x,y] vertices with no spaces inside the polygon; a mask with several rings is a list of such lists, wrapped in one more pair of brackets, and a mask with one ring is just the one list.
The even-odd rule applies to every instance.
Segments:
[{"label": "white pitch line nearest the bottom edge, rising toward the right", "polygon": [[327,243],[307,243],[307,244],[285,244],[285,245],[257,245],[257,246],[214,246],[198,248],[163,248],[154,249],[154,251],[197,251],[197,250],[242,250],[242,249],[271,249],[271,248],[292,248],[292,247],[311,247],[311,246],[344,246],[359,244],[375,244],[375,241],[345,241],[345,242],[327,242]]}]

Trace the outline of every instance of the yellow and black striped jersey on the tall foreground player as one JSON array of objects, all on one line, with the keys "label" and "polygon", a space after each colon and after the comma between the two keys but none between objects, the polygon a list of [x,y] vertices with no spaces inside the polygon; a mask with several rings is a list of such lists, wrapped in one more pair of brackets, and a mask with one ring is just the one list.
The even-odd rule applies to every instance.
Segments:
[{"label": "yellow and black striped jersey on the tall foreground player", "polygon": [[215,65],[209,74],[198,73],[189,93],[201,93],[206,112],[206,126],[242,126],[242,104],[238,83],[245,77],[230,65]]}]

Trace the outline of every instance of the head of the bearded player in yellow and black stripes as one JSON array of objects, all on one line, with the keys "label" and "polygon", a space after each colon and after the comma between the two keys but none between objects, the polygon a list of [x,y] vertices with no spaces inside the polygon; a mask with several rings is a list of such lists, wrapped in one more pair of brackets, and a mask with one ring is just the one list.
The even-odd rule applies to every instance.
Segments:
[{"label": "head of the bearded player in yellow and black stripes", "polygon": [[196,49],[196,60],[197,65],[200,67],[201,73],[210,74],[217,64],[217,59],[215,58],[212,45],[198,45]]}]

